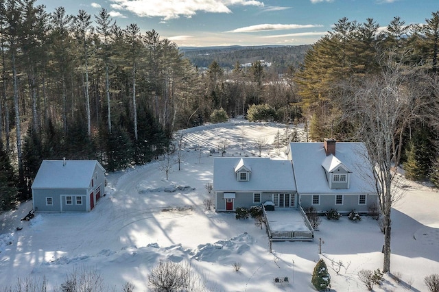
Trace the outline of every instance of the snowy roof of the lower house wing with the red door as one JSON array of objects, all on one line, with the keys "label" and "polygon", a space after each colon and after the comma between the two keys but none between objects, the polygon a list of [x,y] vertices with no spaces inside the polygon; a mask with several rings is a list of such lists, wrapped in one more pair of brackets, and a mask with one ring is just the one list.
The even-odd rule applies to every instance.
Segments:
[{"label": "snowy roof of the lower house wing with the red door", "polygon": [[[252,171],[248,182],[237,181],[235,168],[240,163]],[[292,163],[289,160],[260,157],[215,158],[213,160],[213,190],[296,191]]]}]

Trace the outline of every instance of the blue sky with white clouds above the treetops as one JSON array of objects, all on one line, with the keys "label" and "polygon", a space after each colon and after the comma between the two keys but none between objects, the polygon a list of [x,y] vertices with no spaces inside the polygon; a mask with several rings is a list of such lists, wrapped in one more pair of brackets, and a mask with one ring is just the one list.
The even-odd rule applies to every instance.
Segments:
[{"label": "blue sky with white clouds above the treetops", "polygon": [[[372,18],[387,26],[395,16],[406,24],[425,23],[439,10],[438,0],[37,0],[47,12],[105,8],[125,28],[137,23],[155,29],[180,47],[218,45],[303,45],[316,42],[347,17]],[[94,19],[94,18],[93,18]]]}]

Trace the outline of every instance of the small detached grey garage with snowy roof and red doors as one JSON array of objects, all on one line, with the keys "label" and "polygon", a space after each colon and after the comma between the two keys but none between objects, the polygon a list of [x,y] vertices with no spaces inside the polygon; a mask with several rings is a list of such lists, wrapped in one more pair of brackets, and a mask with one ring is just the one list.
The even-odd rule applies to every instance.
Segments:
[{"label": "small detached grey garage with snowy roof and red doors", "polygon": [[35,212],[89,212],[104,194],[97,160],[43,160],[32,184]]}]

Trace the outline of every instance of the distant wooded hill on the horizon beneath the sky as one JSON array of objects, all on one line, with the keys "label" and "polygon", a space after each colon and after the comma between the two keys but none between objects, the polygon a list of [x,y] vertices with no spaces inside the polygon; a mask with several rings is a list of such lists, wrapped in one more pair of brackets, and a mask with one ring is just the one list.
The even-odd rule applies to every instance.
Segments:
[{"label": "distant wooded hill on the horizon beneath the sky", "polygon": [[199,68],[209,66],[214,60],[225,69],[233,69],[237,61],[246,64],[264,60],[277,66],[278,71],[283,71],[290,65],[297,67],[302,63],[309,48],[311,45],[180,47],[180,51]]}]

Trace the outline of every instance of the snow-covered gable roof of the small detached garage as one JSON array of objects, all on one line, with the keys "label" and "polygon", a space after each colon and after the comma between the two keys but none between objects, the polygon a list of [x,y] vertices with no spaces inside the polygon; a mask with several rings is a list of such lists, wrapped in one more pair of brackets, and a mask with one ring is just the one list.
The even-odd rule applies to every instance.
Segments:
[{"label": "snow-covered gable roof of the small detached garage", "polygon": [[88,188],[97,160],[43,160],[32,188]]}]

